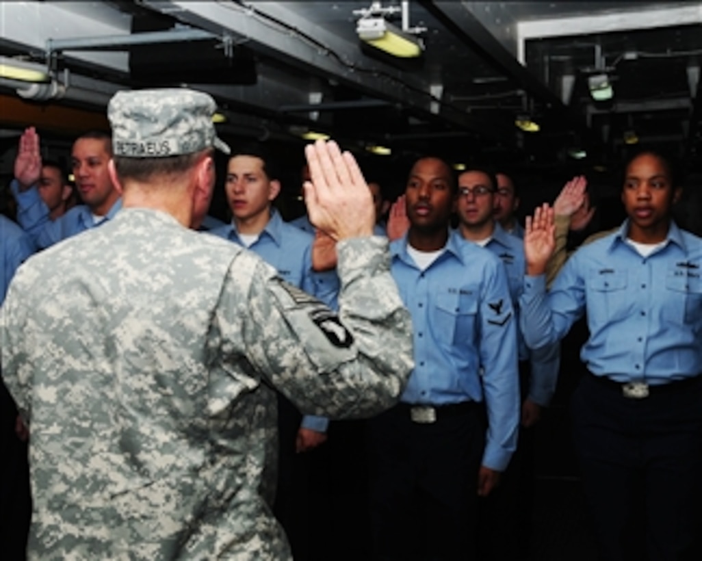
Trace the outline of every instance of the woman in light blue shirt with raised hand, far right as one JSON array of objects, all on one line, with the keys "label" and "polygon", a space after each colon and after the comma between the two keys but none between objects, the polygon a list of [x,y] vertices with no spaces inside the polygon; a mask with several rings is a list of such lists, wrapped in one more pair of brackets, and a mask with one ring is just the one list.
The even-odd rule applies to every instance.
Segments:
[{"label": "woman in light blue shirt with raised hand, far right", "polygon": [[673,222],[675,185],[668,159],[636,154],[623,180],[628,219],[578,249],[548,295],[553,210],[527,219],[527,345],[557,341],[587,314],[589,373],[571,418],[602,559],[702,551],[702,239]]}]

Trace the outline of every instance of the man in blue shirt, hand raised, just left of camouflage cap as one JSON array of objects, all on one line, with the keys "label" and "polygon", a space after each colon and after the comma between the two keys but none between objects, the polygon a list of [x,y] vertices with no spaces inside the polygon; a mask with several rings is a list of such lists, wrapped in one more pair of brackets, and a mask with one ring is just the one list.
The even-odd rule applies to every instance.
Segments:
[{"label": "man in blue shirt, hand raised, just left of camouflage cap", "polygon": [[20,139],[11,190],[18,204],[18,222],[39,249],[100,225],[121,209],[119,192],[108,171],[111,158],[109,133],[91,131],[77,138],[71,152],[72,169],[84,204],[74,206],[52,221],[36,187],[41,173],[39,136],[34,128],[25,131]]}]

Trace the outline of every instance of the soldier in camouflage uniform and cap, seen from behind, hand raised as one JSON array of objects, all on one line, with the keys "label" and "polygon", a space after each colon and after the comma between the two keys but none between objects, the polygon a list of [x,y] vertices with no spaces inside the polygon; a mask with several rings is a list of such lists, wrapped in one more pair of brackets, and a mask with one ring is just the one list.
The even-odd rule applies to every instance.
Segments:
[{"label": "soldier in camouflage uniform and cap, seen from behind, hand raised", "polygon": [[338,315],[188,230],[213,147],[227,150],[214,110],[185,89],[117,93],[124,209],[30,260],[8,291],[2,369],[29,423],[32,559],[289,558],[258,493],[273,388],[305,414],[368,416],[413,367],[388,242],[371,237],[370,191],[336,144],[307,147],[306,198],[339,240]]}]

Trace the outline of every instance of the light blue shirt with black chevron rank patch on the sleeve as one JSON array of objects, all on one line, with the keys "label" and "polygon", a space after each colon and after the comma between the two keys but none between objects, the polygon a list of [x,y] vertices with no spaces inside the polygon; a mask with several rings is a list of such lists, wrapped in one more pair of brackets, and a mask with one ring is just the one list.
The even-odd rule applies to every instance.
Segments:
[{"label": "light blue shirt with black chevron rank patch on the sleeve", "polygon": [[424,271],[407,252],[406,235],[390,244],[390,255],[392,277],[414,326],[415,368],[402,401],[442,405],[484,400],[489,425],[482,465],[504,470],[517,442],[519,376],[516,323],[503,265],[455,232],[444,253]]}]

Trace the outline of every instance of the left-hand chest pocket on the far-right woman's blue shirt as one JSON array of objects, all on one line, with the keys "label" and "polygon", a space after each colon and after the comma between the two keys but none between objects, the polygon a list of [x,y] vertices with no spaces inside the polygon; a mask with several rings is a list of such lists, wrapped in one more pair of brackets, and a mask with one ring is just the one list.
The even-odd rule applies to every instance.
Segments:
[{"label": "left-hand chest pocket on the far-right woman's blue shirt", "polygon": [[626,271],[592,270],[588,278],[588,318],[598,324],[617,321],[630,312]]}]

